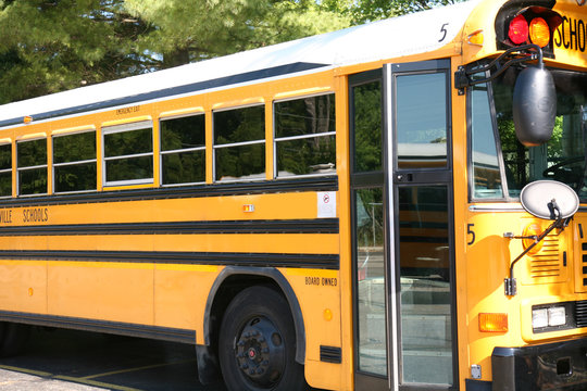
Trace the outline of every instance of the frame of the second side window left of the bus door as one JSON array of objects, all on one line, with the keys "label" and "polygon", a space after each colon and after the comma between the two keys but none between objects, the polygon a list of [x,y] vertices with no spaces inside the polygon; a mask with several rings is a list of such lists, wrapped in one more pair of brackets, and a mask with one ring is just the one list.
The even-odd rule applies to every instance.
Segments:
[{"label": "frame of the second side window left of the bus door", "polygon": [[[224,143],[224,144],[216,144],[215,143],[215,124],[214,124],[214,114],[221,113],[221,112],[227,112],[227,111],[236,111],[241,109],[249,109],[249,108],[262,108],[263,109],[263,135],[264,138],[260,140],[250,140],[250,141],[237,141],[237,142],[230,142],[230,143]],[[211,112],[212,115],[212,180],[214,184],[228,184],[228,182],[250,182],[250,181],[259,181],[259,180],[265,180],[267,175],[267,162],[266,162],[266,155],[267,155],[267,137],[266,137],[266,118],[267,118],[267,111],[265,103],[259,103],[255,102],[253,104],[246,104],[246,105],[239,105],[239,106],[232,106],[232,108],[222,108],[217,110],[213,110]],[[221,149],[227,149],[227,148],[235,148],[235,147],[248,147],[248,146],[258,146],[262,144],[264,146],[265,152],[263,153],[263,162],[264,162],[264,172],[262,174],[259,174],[259,177],[250,177],[250,178],[236,178],[236,179],[217,179],[216,178],[216,151]]]}]

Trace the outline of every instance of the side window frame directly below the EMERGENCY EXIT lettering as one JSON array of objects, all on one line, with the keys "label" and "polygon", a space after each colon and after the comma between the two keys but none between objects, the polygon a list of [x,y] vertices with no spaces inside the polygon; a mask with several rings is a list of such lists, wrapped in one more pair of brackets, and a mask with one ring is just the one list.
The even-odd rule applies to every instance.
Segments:
[{"label": "side window frame directly below the EMERGENCY EXIT lettering", "polygon": [[[105,156],[105,138],[109,135],[127,133],[134,130],[150,129],[151,134],[151,152],[133,153],[127,155]],[[151,119],[142,119],[128,122],[125,124],[105,125],[101,128],[101,157],[102,157],[102,184],[103,187],[116,186],[133,186],[133,185],[152,185],[154,184],[154,144],[153,144],[153,122]],[[120,161],[125,159],[147,157],[151,156],[151,177],[141,179],[125,179],[125,180],[108,180],[107,163],[111,161]]]}]

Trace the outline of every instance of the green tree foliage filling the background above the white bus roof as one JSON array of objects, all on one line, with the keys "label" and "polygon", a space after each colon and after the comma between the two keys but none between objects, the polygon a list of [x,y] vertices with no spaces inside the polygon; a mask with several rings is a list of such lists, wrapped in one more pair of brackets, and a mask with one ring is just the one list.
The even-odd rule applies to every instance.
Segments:
[{"label": "green tree foliage filling the background above the white bus roof", "polygon": [[0,0],[0,103],[460,0]]}]

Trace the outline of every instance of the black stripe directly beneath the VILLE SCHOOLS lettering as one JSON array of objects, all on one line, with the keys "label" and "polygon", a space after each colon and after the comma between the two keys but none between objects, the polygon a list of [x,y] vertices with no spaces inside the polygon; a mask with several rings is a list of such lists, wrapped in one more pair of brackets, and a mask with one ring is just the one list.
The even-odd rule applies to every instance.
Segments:
[{"label": "black stripe directly beneath the VILLE SCHOOLS lettering", "polygon": [[0,236],[338,234],[338,218],[291,220],[70,224],[0,227]]}]

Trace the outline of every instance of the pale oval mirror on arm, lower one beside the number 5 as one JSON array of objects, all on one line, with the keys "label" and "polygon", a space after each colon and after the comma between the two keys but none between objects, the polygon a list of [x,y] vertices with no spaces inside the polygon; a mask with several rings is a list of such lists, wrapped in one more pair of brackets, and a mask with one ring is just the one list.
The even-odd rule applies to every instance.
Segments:
[{"label": "pale oval mirror on arm, lower one beside the number 5", "polygon": [[575,190],[555,180],[536,180],[526,185],[520,193],[520,202],[533,216],[551,220],[569,218],[579,206]]}]

